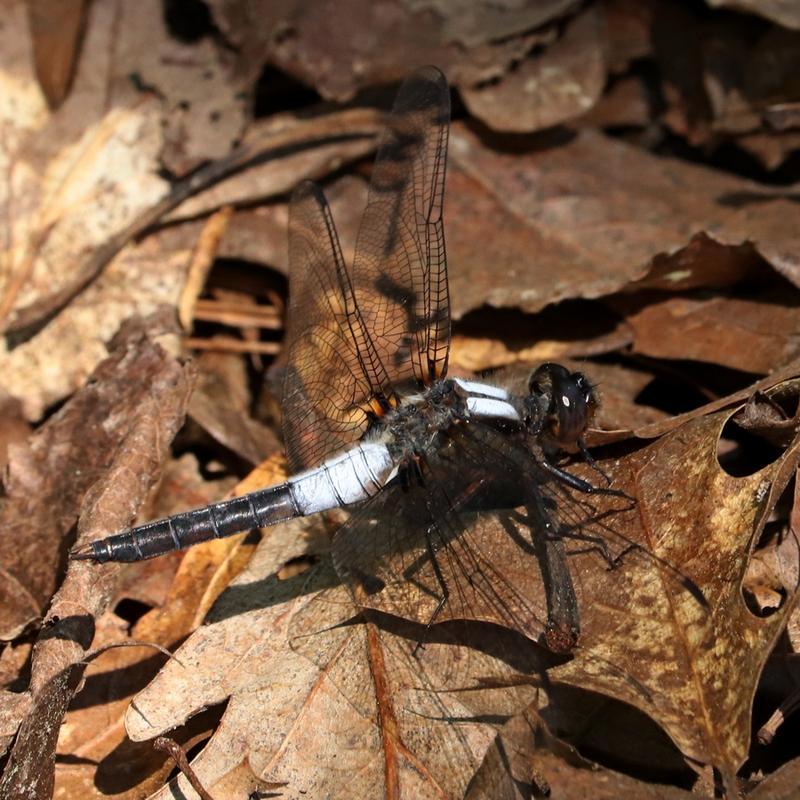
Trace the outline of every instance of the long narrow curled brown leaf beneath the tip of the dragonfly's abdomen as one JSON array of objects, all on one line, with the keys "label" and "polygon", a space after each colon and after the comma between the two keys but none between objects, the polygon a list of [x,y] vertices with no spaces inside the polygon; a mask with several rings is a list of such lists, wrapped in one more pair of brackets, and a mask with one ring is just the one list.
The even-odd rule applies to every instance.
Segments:
[{"label": "long narrow curled brown leaf beneath the tip of the dragonfly's abdomen", "polygon": [[[104,460],[89,475],[91,487],[73,501],[80,502],[79,537],[97,537],[131,523],[183,422],[192,371],[148,339],[153,324],[131,321],[116,338],[113,354],[99,365],[95,381],[71,401],[91,425],[109,426]],[[115,402],[106,400],[104,408],[101,401],[109,395]],[[120,405],[126,400],[127,406]],[[59,448],[83,454],[87,439],[67,440]],[[49,513],[58,505],[47,495],[34,497],[48,503]],[[17,546],[30,547],[33,541],[28,535]],[[59,547],[63,544],[58,541]],[[86,564],[70,565],[34,648],[31,708],[0,779],[1,796],[52,796],[59,730],[83,675],[94,618],[107,606],[117,572],[112,567],[98,574]]]}]

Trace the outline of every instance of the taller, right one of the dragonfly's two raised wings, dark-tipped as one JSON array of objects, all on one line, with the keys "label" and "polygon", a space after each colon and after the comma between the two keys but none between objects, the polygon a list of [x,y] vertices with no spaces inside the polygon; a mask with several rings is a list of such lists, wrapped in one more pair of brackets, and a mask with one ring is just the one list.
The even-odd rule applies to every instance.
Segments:
[{"label": "taller, right one of the dragonfly's two raised wings, dark-tipped", "polygon": [[356,297],[393,385],[447,371],[450,299],[442,204],[450,122],[435,67],[401,86],[372,173],[353,268]]}]

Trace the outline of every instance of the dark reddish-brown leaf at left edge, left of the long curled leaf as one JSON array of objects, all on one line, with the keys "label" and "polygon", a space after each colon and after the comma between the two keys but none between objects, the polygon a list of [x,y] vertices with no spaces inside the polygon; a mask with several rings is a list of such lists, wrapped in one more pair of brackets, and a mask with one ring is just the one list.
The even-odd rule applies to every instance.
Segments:
[{"label": "dark reddish-brown leaf at left edge, left of the long curled leaf", "polygon": [[129,324],[94,380],[28,442],[12,447],[0,508],[0,638],[15,638],[47,607],[86,493],[117,457],[165,368],[166,355],[147,346],[146,334],[169,324],[169,315]]}]

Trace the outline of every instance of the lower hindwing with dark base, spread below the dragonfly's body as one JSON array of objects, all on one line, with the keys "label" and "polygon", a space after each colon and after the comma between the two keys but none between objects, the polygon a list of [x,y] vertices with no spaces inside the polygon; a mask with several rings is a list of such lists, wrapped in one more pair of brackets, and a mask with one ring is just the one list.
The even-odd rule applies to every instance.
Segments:
[{"label": "lower hindwing with dark base, spread below the dragonfly's body", "polygon": [[525,465],[531,456],[481,428],[453,433],[426,459],[421,485],[396,480],[360,507],[334,535],[334,562],[362,607],[423,625],[494,622],[536,639],[548,612],[531,575],[546,531],[512,510],[526,501],[514,455]]}]

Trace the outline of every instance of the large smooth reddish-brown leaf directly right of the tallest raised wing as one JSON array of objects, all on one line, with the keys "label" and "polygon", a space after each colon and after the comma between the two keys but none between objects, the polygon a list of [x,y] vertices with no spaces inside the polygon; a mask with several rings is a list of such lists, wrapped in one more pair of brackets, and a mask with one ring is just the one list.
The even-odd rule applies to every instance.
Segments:
[{"label": "large smooth reddish-brown leaf directly right of the tallest raised wing", "polygon": [[[538,311],[567,298],[601,297],[651,266],[662,279],[696,285],[708,274],[701,254],[719,264],[709,277],[715,282],[726,265],[746,274],[758,254],[800,285],[794,204],[741,178],[589,130],[502,151],[454,124],[450,151],[446,234],[459,265],[451,285],[456,318],[482,304]],[[705,239],[692,239],[702,232]],[[748,241],[755,253],[719,252],[719,245]]]}]

